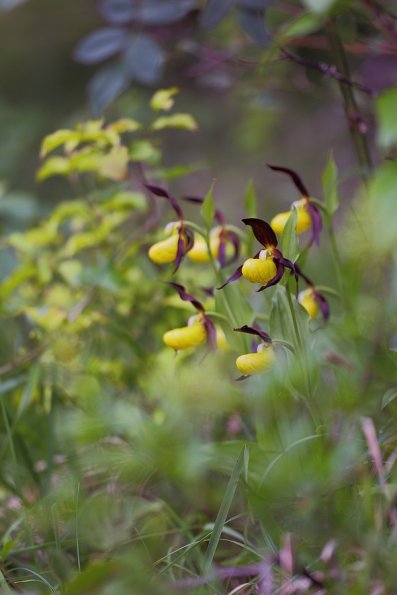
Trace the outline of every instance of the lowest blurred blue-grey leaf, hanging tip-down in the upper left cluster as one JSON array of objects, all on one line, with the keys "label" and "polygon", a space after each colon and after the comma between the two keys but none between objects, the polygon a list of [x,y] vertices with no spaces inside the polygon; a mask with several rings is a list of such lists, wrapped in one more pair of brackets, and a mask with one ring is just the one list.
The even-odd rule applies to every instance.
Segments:
[{"label": "lowest blurred blue-grey leaf, hanging tip-down in the upper left cluster", "polygon": [[88,84],[88,96],[94,116],[99,116],[130,84],[126,72],[118,65],[99,70]]}]

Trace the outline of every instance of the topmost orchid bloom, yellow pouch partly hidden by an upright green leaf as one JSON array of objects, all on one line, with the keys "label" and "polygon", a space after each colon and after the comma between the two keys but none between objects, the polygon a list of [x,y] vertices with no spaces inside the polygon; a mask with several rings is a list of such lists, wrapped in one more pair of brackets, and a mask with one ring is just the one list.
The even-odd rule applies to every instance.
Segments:
[{"label": "topmost orchid bloom, yellow pouch partly hidden by an upright green leaf", "polygon": [[[296,172],[292,169],[288,169],[287,167],[279,167],[277,165],[269,165],[270,169],[274,171],[281,171],[290,176],[295,187],[299,190],[302,195],[300,200],[295,201],[292,203],[292,207],[296,209],[296,233],[301,234],[311,228],[312,236],[310,239],[310,244],[315,242],[316,244],[319,243],[319,236],[322,227],[321,215],[320,211],[310,201],[309,193],[306,189],[306,186],[303,184],[302,180],[298,176]],[[284,230],[284,227],[291,215],[290,211],[285,211],[283,213],[278,213],[275,215],[273,219],[270,221],[270,225],[272,229],[281,234]]]}]

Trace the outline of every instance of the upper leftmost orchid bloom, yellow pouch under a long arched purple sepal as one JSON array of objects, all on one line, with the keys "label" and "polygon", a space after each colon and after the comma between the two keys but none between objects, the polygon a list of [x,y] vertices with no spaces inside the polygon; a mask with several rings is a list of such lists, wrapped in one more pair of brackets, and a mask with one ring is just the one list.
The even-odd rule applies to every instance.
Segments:
[{"label": "upper leftmost orchid bloom, yellow pouch under a long arched purple sepal", "polygon": [[175,263],[174,273],[178,270],[184,256],[193,247],[194,234],[193,231],[185,224],[183,220],[183,211],[176,199],[160,186],[153,184],[145,184],[145,188],[150,190],[155,196],[161,196],[170,203],[178,216],[179,222],[172,223],[166,227],[166,231],[170,231],[170,237],[156,242],[148,251],[150,260],[156,264]]}]

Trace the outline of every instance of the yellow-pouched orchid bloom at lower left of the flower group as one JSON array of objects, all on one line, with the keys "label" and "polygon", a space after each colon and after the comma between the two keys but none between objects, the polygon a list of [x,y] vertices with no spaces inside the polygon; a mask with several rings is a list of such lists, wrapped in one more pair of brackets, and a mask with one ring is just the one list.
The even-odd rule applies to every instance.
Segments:
[{"label": "yellow-pouched orchid bloom at lower left of the flower group", "polygon": [[207,341],[210,349],[217,347],[217,332],[214,323],[205,314],[204,306],[194,296],[186,292],[183,285],[178,283],[168,283],[173,287],[181,300],[190,302],[198,311],[196,316],[192,316],[187,326],[172,329],[163,335],[163,341],[168,347],[175,351],[198,347],[201,343]]}]

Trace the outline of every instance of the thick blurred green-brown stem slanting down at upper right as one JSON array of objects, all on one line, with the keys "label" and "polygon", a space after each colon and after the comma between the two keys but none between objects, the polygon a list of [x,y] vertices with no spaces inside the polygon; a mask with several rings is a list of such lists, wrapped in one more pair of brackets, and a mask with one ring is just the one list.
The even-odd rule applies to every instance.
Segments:
[{"label": "thick blurred green-brown stem slanting down at upper right", "polygon": [[[338,72],[340,72],[346,80],[351,80],[345,48],[333,20],[328,24],[327,30],[329,46],[333,54],[335,66]],[[363,125],[363,119],[352,86],[343,81],[339,81],[339,88],[343,97],[346,119],[349,124],[357,161],[360,165],[361,176],[364,184],[367,184],[372,169],[372,161],[365,136],[365,130],[360,130],[360,125]]]}]

